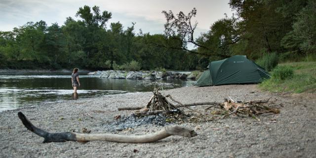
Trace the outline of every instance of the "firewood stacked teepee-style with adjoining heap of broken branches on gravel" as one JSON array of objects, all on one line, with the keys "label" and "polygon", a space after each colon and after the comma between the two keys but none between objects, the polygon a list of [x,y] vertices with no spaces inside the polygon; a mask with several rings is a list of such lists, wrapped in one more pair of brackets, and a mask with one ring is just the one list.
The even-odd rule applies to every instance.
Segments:
[{"label": "firewood stacked teepee-style with adjoining heap of broken branches on gravel", "polygon": [[[192,103],[192,104],[182,104],[179,101],[174,100],[170,95],[163,96],[158,88],[155,88],[153,91],[153,96],[150,98],[149,102],[145,107],[125,107],[118,108],[118,110],[139,110],[134,115],[137,117],[141,116],[149,116],[149,115],[158,115],[158,114],[184,114],[179,108],[184,107],[188,108],[193,112],[198,114],[202,114],[202,112],[193,110],[189,107],[191,106],[199,106],[199,105],[211,105],[205,110],[210,110],[211,108],[219,108],[224,111],[225,114],[222,118],[226,118],[230,115],[243,115],[249,116],[252,118],[256,118],[256,116],[264,113],[273,113],[278,114],[280,111],[276,108],[271,108],[266,106],[265,104],[269,103],[269,99],[265,100],[256,100],[256,101],[248,101],[248,102],[237,102],[234,101],[231,97],[230,99],[224,99],[224,103],[217,102],[202,102],[202,103]],[[168,99],[172,102],[168,101]],[[176,103],[176,105],[174,105]],[[258,118],[256,118],[258,119]],[[258,119],[259,120],[259,119]]]}]

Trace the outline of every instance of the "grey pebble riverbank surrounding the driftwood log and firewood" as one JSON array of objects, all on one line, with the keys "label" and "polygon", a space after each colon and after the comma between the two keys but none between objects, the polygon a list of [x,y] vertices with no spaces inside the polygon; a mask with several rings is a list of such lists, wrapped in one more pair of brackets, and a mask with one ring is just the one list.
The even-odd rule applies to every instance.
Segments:
[{"label": "grey pebble riverbank surrounding the driftwood log and firewood", "polygon": [[[241,101],[271,98],[280,105],[278,115],[253,118],[225,118],[208,122],[180,123],[196,129],[193,138],[171,136],[155,143],[123,144],[105,141],[41,143],[43,139],[27,130],[17,112],[23,112],[32,123],[49,132],[110,132],[108,124],[115,116],[133,111],[118,107],[145,106],[152,92],[108,95],[99,98],[68,100],[0,113],[1,157],[136,157],[136,158],[222,158],[222,157],[316,157],[316,98],[314,95],[272,94],[257,85],[222,85],[182,87],[163,91],[184,104],[223,102],[230,95]],[[208,106],[193,109],[202,113]],[[145,134],[158,131],[159,125],[147,124],[133,130],[111,131],[118,134]],[[137,150],[137,151],[136,151]],[[136,151],[136,152],[134,152]]]}]

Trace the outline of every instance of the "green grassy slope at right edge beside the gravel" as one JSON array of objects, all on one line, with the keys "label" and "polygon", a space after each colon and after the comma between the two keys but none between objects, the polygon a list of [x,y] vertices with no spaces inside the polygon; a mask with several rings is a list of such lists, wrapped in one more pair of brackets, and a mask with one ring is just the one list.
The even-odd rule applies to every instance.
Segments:
[{"label": "green grassy slope at right edge beside the gravel", "polygon": [[[294,70],[291,78],[277,80],[272,77],[259,84],[263,90],[271,92],[312,92],[316,93],[316,62],[282,63],[278,67]],[[272,72],[273,75],[274,72]]]}]

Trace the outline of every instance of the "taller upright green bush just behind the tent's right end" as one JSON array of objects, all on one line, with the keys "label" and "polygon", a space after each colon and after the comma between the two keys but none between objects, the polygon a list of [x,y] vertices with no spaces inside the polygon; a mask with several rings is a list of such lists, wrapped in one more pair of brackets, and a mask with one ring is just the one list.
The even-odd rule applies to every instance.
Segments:
[{"label": "taller upright green bush just behind the tent's right end", "polygon": [[261,67],[265,68],[267,71],[273,70],[273,68],[277,65],[277,54],[273,53],[265,53],[261,58],[259,58],[256,63]]}]

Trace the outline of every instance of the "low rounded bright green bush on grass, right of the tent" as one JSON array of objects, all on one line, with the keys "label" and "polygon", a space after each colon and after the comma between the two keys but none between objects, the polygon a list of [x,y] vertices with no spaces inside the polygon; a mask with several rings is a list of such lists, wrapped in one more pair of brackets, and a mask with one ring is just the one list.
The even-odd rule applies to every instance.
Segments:
[{"label": "low rounded bright green bush on grass, right of the tent", "polygon": [[278,66],[272,71],[271,76],[276,82],[291,79],[294,76],[294,69],[289,66]]}]

